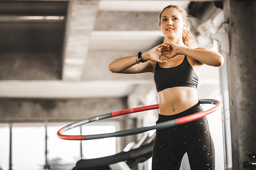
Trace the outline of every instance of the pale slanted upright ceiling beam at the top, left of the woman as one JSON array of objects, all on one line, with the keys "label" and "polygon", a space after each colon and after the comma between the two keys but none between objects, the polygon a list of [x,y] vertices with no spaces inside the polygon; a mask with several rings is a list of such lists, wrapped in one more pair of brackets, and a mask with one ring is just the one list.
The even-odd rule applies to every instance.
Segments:
[{"label": "pale slanted upright ceiling beam at the top, left of the woman", "polygon": [[79,81],[87,57],[99,0],[70,0],[64,41],[62,79]]}]

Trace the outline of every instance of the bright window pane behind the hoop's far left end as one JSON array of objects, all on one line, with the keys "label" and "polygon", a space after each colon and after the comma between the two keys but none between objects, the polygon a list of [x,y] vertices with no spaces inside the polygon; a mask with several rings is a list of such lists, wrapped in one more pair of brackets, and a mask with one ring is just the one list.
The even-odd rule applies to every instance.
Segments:
[{"label": "bright window pane behind the hoop's far left end", "polygon": [[[81,142],[60,139],[57,132],[63,126],[47,127],[48,164],[51,170],[70,170],[81,159]],[[80,135],[80,127],[70,129],[64,135]]]}]

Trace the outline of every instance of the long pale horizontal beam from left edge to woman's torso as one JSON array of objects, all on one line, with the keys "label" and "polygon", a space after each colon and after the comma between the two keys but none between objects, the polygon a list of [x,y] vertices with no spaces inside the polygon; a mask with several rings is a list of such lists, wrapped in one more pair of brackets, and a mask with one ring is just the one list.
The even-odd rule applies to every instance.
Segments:
[{"label": "long pale horizontal beam from left edge to woman's torso", "polygon": [[153,80],[112,81],[0,81],[0,98],[94,98],[128,96],[136,85],[151,85]]}]

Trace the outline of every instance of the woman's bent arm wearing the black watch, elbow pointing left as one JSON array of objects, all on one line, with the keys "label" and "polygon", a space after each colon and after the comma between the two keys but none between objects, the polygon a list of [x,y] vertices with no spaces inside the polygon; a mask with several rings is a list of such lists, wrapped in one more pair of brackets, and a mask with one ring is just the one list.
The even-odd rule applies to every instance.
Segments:
[{"label": "woman's bent arm wearing the black watch, elbow pointing left", "polygon": [[[160,62],[164,63],[167,62],[166,60],[160,60],[159,58],[163,55],[162,49],[163,44],[157,45],[154,48],[151,48],[150,50],[143,52],[141,54],[141,57],[144,61],[140,63],[140,60],[138,59],[137,55],[128,56],[128,57],[122,57],[119,59],[116,59],[115,61],[111,62],[111,64],[108,66],[108,69],[113,73],[125,73],[125,74],[135,74],[135,73],[145,73],[145,72],[154,72],[153,64],[154,62]],[[135,65],[135,60],[136,64]],[[136,71],[137,68],[137,71]]]}]

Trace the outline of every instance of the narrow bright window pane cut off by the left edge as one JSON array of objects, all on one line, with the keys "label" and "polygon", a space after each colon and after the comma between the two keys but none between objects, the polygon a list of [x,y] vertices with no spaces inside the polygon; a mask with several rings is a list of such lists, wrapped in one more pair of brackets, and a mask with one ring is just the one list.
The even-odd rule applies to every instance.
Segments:
[{"label": "narrow bright window pane cut off by the left edge", "polygon": [[10,128],[0,127],[0,170],[9,170]]}]

